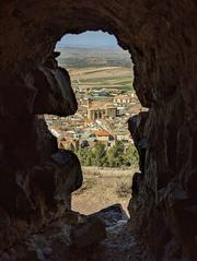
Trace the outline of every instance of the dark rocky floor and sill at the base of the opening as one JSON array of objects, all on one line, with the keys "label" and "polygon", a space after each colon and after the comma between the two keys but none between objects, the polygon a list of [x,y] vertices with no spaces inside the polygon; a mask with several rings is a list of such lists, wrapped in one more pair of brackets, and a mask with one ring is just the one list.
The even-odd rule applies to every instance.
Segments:
[{"label": "dark rocky floor and sill at the base of the opening", "polygon": [[[112,205],[97,212],[96,217],[68,211],[42,232],[4,251],[0,260],[140,261],[141,253],[120,211],[120,205]],[[114,218],[103,218],[111,215]]]}]

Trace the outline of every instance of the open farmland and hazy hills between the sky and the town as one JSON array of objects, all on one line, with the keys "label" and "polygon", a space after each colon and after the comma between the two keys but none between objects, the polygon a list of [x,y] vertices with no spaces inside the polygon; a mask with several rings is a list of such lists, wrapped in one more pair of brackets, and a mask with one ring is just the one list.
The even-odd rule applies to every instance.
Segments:
[{"label": "open farmland and hazy hills between the sky and the town", "polygon": [[58,62],[69,71],[73,88],[132,91],[134,71],[128,51],[120,48],[59,48]]}]

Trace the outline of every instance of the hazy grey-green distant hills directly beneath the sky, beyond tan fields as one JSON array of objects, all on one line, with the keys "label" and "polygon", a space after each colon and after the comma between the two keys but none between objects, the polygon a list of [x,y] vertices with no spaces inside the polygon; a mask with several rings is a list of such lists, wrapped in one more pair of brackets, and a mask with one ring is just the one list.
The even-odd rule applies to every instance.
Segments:
[{"label": "hazy grey-green distant hills directly beneath the sky, beyond tan fields", "polygon": [[59,47],[58,62],[65,68],[131,67],[130,55],[121,48]]}]

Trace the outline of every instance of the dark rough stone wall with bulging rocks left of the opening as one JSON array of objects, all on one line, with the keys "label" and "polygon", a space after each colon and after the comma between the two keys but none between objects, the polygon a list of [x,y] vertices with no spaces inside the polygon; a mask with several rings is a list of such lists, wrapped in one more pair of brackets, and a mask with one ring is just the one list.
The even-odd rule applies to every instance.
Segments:
[{"label": "dark rough stone wall with bulging rocks left of the opening", "polygon": [[12,69],[1,79],[0,260],[2,250],[69,211],[71,193],[82,185],[78,157],[58,149],[37,115],[77,111],[70,78],[55,55],[26,75]]}]

